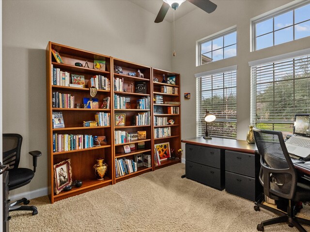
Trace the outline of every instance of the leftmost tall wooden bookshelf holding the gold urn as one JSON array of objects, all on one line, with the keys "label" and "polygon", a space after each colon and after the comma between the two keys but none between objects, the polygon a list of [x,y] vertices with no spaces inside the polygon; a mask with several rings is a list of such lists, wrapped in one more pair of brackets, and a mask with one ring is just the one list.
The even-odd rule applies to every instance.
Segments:
[{"label": "leftmost tall wooden bookshelf holding the gold urn", "polygon": [[[56,50],[63,63],[58,63],[52,54],[52,49]],[[83,108],[83,98],[92,98],[90,95],[89,82],[93,76],[104,76],[108,81],[111,81],[111,57],[76,49],[73,47],[52,43],[47,44],[46,49],[47,56],[47,151],[48,151],[48,195],[51,203],[56,201],[78,195],[80,193],[90,191],[96,188],[101,188],[113,183],[113,160],[112,160],[112,145],[113,145],[113,133],[112,133],[112,111],[111,105],[109,109],[102,109],[101,105],[103,99],[110,97],[112,99],[112,91],[110,89],[98,89],[94,98],[98,99],[97,109]],[[94,60],[103,60],[106,62],[105,71],[93,69]],[[81,63],[83,66],[76,66],[75,63]],[[85,63],[88,63],[88,67],[84,67]],[[53,81],[54,73],[53,68],[59,69],[62,72],[69,73],[69,82],[72,83],[71,74],[83,75],[85,78],[85,87],[69,87],[63,85],[57,85]],[[56,85],[55,85],[56,84]],[[66,84],[68,85],[68,83]],[[55,92],[55,95],[53,94]],[[56,95],[62,96],[64,94],[70,94],[74,96],[74,102],[72,102],[71,108],[58,108],[54,105],[53,101]],[[110,101],[111,102],[111,101]],[[111,103],[110,103],[111,104]],[[63,107],[63,106],[62,106]],[[95,107],[95,106],[94,106]],[[52,115],[55,112],[62,112],[64,128],[53,128]],[[96,113],[110,114],[110,124],[108,126],[97,127],[83,127],[83,121],[95,120]],[[55,137],[55,135],[57,136]],[[57,148],[54,145],[53,148],[53,136],[54,144],[55,139],[59,135],[91,135],[91,136],[106,136],[107,144],[101,146],[93,146],[89,148],[76,149],[73,147]],[[54,150],[53,150],[54,149]],[[104,158],[104,162],[107,163],[108,171],[104,177],[104,180],[96,180],[93,165],[96,164],[96,159]],[[72,168],[72,180],[81,180],[82,186],[79,188],[73,187],[69,191],[61,191],[55,193],[55,177],[54,177],[54,165],[60,163],[63,160],[71,161]]]}]

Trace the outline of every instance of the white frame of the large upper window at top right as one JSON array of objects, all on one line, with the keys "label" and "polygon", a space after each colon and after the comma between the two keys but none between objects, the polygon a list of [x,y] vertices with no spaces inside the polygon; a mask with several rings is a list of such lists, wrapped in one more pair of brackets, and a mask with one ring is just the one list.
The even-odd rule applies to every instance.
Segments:
[{"label": "white frame of the large upper window at top right", "polygon": [[[261,48],[259,50],[256,49],[257,47],[257,43],[256,43],[256,24],[259,24],[263,21],[266,21],[268,19],[273,19],[272,21],[272,28],[273,30],[271,32],[268,32],[268,33],[264,33],[260,36],[263,36],[263,35],[266,35],[266,34],[270,34],[272,33],[272,36],[273,36],[273,45],[272,46],[269,46],[269,47],[274,47],[276,45],[279,45],[279,44],[283,44],[283,43],[279,43],[279,44],[276,44],[275,45],[275,32],[276,31],[279,31],[279,30],[282,30],[282,29],[286,29],[286,28],[290,28],[292,27],[293,28],[293,40],[291,41],[294,41],[295,40],[295,25],[298,25],[298,24],[301,24],[303,22],[307,22],[309,21],[308,20],[305,20],[305,21],[302,21],[302,22],[298,22],[297,24],[295,24],[295,11],[296,9],[300,8],[300,7],[303,7],[305,5],[308,5],[310,4],[310,0],[306,0],[306,1],[302,1],[302,2],[290,2],[288,4],[285,4],[275,10],[272,10],[272,11],[269,11],[267,13],[264,13],[264,14],[261,14],[259,16],[256,16],[254,18],[252,18],[250,20],[250,26],[251,26],[251,52],[254,52],[254,51],[259,51],[259,50],[262,50],[262,49],[265,49],[265,48],[268,48],[268,47],[264,47],[264,48]],[[283,28],[280,28],[280,29],[276,29],[275,30],[275,17],[281,15],[281,14],[286,14],[288,12],[291,12],[293,11],[293,24],[290,25],[290,26],[286,26],[286,27],[283,27]],[[307,36],[308,37],[308,36]],[[306,38],[306,37],[304,37]],[[291,42],[291,41],[288,41],[288,42]],[[285,42],[285,43],[288,43],[288,42]]]}]

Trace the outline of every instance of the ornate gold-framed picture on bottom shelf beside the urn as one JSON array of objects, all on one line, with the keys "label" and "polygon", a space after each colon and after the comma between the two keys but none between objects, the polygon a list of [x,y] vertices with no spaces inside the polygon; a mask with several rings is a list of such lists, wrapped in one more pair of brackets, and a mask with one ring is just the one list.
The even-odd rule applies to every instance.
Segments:
[{"label": "ornate gold-framed picture on bottom shelf beside the urn", "polygon": [[54,165],[54,184],[56,194],[59,194],[64,187],[72,184],[70,159]]}]

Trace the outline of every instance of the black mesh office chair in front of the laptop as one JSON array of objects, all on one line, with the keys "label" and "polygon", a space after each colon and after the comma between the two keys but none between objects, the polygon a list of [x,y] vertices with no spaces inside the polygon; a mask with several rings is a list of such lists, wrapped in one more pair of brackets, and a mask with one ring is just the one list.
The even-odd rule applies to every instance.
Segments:
[{"label": "black mesh office chair in front of the laptop", "polygon": [[[257,225],[258,231],[263,231],[264,226],[286,222],[290,227],[306,232],[300,225],[310,225],[310,220],[295,217],[296,203],[310,201],[310,182],[298,177],[294,164],[286,149],[281,131],[267,131],[253,128],[255,143],[261,156],[261,173],[259,180],[263,185],[263,193],[270,199],[288,200],[287,212],[256,202],[256,211],[260,207],[271,211],[280,217],[272,218]],[[308,183],[307,183],[308,182]]]}]

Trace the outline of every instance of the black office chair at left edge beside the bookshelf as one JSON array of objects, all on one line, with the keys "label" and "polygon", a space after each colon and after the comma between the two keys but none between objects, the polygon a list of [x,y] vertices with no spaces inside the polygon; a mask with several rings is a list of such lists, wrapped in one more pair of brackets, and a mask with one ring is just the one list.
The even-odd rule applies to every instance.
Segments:
[{"label": "black office chair at left edge beside the bookshelf", "polygon": [[[28,168],[19,168],[20,149],[23,137],[20,134],[3,134],[3,164],[9,164],[9,190],[13,190],[30,183],[34,176],[37,166],[37,158],[42,155],[40,151],[31,151],[29,154],[33,160],[33,171]],[[10,203],[9,211],[27,210],[32,211],[32,215],[38,213],[35,206],[18,205],[20,203],[29,204],[30,201],[22,198],[16,202]]]}]

